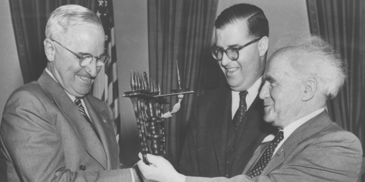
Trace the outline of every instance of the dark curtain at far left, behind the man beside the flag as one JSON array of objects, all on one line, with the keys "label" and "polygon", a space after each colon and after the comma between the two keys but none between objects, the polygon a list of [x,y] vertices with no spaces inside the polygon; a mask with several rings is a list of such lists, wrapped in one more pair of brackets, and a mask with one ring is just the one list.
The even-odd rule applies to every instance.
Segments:
[{"label": "dark curtain at far left, behind the man beside the flag", "polygon": [[35,81],[47,64],[43,41],[49,14],[65,4],[94,10],[95,0],[9,0],[23,82]]}]

